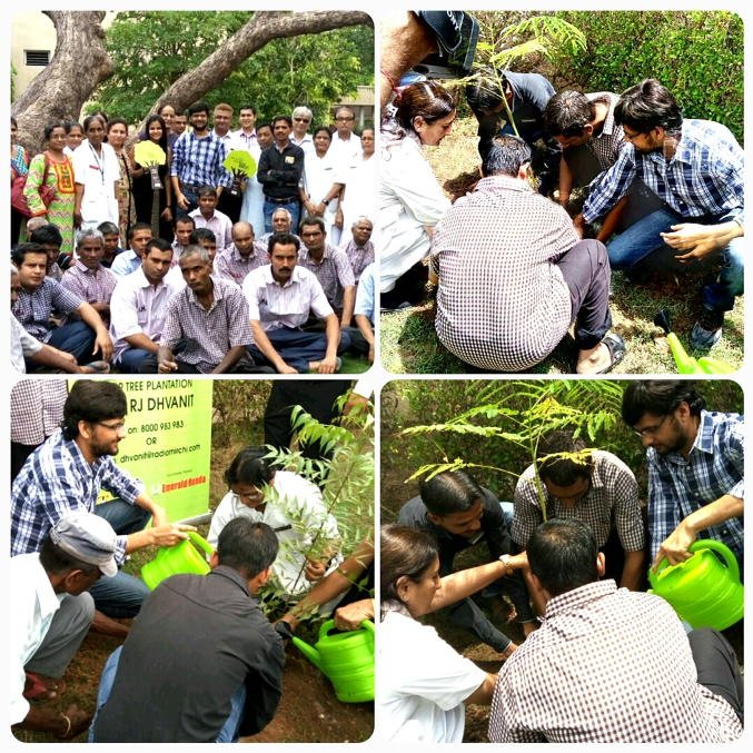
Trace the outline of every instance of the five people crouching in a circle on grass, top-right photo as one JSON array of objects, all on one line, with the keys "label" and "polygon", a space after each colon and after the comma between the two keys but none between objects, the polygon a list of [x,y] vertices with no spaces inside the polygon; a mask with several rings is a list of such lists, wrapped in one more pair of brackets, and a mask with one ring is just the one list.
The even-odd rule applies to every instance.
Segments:
[{"label": "five people crouching in a circle on grass, top-right photo", "polygon": [[423,147],[450,131],[455,96],[434,80],[389,80],[383,307],[416,303],[428,284],[440,343],[491,371],[532,368],[574,325],[573,370],[603,374],[626,350],[611,329],[612,270],[640,284],[667,265],[701,266],[713,279],[691,344],[719,341],[744,266],[743,150],[725,126],[684,118],[655,79],[622,95],[555,92],[539,73],[489,69],[466,88],[480,180],[450,205]]}]

